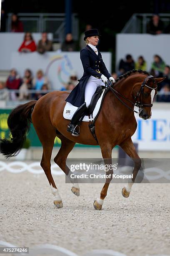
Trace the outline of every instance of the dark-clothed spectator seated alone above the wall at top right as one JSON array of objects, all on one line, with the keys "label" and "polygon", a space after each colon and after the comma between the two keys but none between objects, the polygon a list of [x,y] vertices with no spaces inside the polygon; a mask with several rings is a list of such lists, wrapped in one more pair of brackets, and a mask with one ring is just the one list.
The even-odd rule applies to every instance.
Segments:
[{"label": "dark-clothed spectator seated alone above the wall at top right", "polygon": [[164,29],[163,21],[160,20],[160,17],[158,14],[154,14],[150,22],[148,23],[147,33],[158,35],[163,33],[163,29]]}]

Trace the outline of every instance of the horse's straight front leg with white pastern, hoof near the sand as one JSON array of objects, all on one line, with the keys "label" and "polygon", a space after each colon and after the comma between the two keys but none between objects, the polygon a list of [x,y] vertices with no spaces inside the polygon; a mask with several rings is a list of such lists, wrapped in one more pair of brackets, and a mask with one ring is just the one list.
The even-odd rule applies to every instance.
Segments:
[{"label": "horse's straight front leg with white pastern, hoof near the sand", "polygon": [[[103,157],[104,163],[105,163],[105,169],[106,169],[106,166],[111,167],[112,166],[112,148],[111,147],[107,148],[107,146],[104,146],[103,148],[101,147],[101,152],[102,152],[102,157]],[[107,168],[107,170],[108,171],[106,171],[106,175],[108,178],[106,178],[105,184],[102,188],[102,191],[100,192],[100,198],[97,198],[95,200],[95,202],[93,203],[95,210],[102,209],[104,199],[107,196],[107,189],[112,180],[113,169]]]}]

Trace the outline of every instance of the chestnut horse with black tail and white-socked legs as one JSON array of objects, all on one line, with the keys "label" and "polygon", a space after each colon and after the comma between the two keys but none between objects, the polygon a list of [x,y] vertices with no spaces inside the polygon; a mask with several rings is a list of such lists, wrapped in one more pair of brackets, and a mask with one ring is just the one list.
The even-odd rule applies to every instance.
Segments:
[{"label": "chestnut horse with black tail and white-socked legs", "polygon": [[[78,137],[67,132],[67,125],[70,120],[63,118],[63,109],[68,92],[50,92],[38,101],[32,100],[19,105],[12,110],[8,117],[7,124],[12,137],[1,139],[0,152],[7,158],[18,154],[32,120],[43,147],[41,166],[55,197],[54,204],[60,208],[63,206],[62,200],[50,170],[55,137],[60,138],[61,147],[54,161],[68,177],[70,169],[66,165],[66,160],[76,142],[86,145],[100,145],[105,164],[112,164],[112,148],[119,145],[134,161],[133,179],[122,189],[122,195],[128,197],[141,166],[140,157],[131,140],[131,136],[137,128],[133,108],[135,104],[140,108],[140,118],[150,118],[153,97],[157,93],[157,83],[163,79],[149,76],[147,72],[141,70],[133,70],[120,76],[105,95],[102,108],[95,121],[98,144],[90,132],[88,122],[81,123],[80,136]],[[108,172],[107,174],[112,174],[113,170]],[[97,198],[93,204],[96,210],[102,208],[111,179],[106,179],[100,192],[100,198]],[[78,184],[73,184],[72,192],[77,196],[80,195]]]}]

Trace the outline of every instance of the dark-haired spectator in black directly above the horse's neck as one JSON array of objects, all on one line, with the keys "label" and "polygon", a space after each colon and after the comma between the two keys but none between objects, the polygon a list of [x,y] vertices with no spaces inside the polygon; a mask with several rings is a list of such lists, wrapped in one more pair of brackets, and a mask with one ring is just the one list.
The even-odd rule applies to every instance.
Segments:
[{"label": "dark-haired spectator in black directly above the horse's neck", "polygon": [[135,68],[135,62],[132,58],[132,56],[130,54],[126,55],[126,59],[120,60],[120,64],[119,64],[119,76],[134,69]]}]

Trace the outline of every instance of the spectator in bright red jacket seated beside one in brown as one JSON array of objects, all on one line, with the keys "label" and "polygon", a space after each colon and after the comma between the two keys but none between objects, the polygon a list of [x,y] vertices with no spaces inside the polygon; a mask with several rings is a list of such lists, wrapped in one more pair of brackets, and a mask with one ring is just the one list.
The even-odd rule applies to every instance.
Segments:
[{"label": "spectator in bright red jacket seated beside one in brown", "polygon": [[20,48],[18,49],[20,52],[32,52],[36,51],[36,44],[32,38],[31,33],[25,33],[24,41],[21,44]]}]

